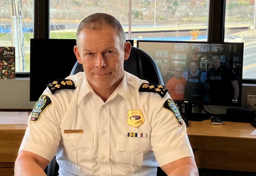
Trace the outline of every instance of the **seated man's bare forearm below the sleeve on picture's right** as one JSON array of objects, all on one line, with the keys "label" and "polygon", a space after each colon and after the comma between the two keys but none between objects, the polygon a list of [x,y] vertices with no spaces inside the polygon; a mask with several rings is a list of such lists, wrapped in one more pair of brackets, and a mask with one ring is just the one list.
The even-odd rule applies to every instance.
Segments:
[{"label": "seated man's bare forearm below the sleeve on picture's right", "polygon": [[161,166],[168,176],[199,176],[194,157],[184,157]]}]

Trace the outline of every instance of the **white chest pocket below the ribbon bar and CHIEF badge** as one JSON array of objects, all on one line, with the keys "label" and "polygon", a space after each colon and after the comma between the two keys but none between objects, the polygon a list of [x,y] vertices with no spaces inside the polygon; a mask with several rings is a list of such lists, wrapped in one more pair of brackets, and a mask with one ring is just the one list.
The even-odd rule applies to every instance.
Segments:
[{"label": "white chest pocket below the ribbon bar and CHIEF badge", "polygon": [[143,164],[144,154],[151,151],[150,137],[117,136],[117,169],[125,174],[138,172]]}]

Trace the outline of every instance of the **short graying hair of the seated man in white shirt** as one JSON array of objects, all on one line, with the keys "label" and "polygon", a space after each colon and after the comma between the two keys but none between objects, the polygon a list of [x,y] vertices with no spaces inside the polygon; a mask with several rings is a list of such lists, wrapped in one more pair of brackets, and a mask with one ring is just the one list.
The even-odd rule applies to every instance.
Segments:
[{"label": "short graying hair of the seated man in white shirt", "polygon": [[118,37],[121,42],[120,44],[124,46],[126,38],[122,25],[114,16],[107,13],[94,13],[87,16],[80,22],[76,30],[76,45],[79,45],[78,38],[83,28],[99,30],[102,29],[103,24],[107,24],[117,30]]}]

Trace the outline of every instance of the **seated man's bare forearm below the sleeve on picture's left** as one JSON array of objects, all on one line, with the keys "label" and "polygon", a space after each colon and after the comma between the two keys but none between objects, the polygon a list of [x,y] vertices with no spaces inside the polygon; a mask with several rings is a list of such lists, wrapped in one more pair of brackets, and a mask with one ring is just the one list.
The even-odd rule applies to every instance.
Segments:
[{"label": "seated man's bare forearm below the sleeve on picture's left", "polygon": [[14,176],[46,176],[44,170],[33,159],[16,160]]}]

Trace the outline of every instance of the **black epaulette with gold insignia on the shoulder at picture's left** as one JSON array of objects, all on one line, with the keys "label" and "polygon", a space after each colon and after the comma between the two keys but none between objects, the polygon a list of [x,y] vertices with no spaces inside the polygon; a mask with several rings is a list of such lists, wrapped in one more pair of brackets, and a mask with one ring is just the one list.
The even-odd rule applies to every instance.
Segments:
[{"label": "black epaulette with gold insignia on the shoulder at picture's left", "polygon": [[75,84],[70,79],[56,79],[55,81],[47,84],[47,87],[50,89],[52,94],[54,94],[56,90],[60,89],[75,89]]}]

